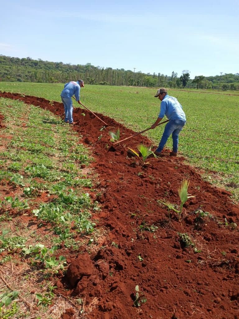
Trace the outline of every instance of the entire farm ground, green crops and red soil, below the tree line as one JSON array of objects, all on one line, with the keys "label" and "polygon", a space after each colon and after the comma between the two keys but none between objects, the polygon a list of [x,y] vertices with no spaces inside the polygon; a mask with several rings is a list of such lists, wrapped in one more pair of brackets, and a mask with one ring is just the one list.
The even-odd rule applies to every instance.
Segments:
[{"label": "entire farm ground, green crops and red soil, below the tree line", "polygon": [[163,125],[110,132],[150,127],[155,89],[85,85],[105,127],[65,124],[62,87],[0,82],[0,318],[239,318],[238,95],[169,90],[183,156],[147,158]]}]

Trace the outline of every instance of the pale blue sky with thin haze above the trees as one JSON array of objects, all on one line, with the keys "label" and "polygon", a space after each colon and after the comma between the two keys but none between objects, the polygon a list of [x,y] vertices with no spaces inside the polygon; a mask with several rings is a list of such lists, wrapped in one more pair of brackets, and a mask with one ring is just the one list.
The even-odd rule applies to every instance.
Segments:
[{"label": "pale blue sky with thin haze above the trees", "polygon": [[239,72],[239,1],[4,1],[0,54],[190,77]]}]

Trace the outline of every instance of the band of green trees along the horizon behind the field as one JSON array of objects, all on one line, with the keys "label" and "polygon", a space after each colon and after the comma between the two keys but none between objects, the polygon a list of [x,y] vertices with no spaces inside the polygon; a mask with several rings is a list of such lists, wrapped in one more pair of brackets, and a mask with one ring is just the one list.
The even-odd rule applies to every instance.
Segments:
[{"label": "band of green trees along the horizon behind the field", "polygon": [[87,63],[69,64],[49,62],[30,57],[17,58],[0,55],[0,81],[66,83],[83,79],[86,84],[131,85],[147,87],[197,88],[216,90],[239,90],[239,73],[221,74],[211,77],[203,75],[190,79],[190,72],[171,75],[142,73],[132,70],[103,68]]}]

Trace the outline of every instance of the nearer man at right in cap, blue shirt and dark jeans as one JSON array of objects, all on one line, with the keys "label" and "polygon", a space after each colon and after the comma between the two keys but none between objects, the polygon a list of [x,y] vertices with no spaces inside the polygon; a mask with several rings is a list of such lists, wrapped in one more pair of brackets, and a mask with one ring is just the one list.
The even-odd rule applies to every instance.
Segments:
[{"label": "nearer man at right in cap, blue shirt and dark jeans", "polygon": [[170,152],[170,156],[177,156],[178,134],[183,129],[186,123],[185,113],[183,111],[182,105],[178,102],[178,100],[173,96],[169,96],[167,90],[164,87],[157,91],[155,97],[158,97],[161,101],[160,113],[156,122],[151,126],[151,129],[156,128],[157,124],[162,120],[164,115],[167,116],[169,122],[165,125],[163,136],[158,145],[158,148],[155,150],[154,153],[157,156],[162,156],[163,147],[172,134],[173,150],[172,152]]}]

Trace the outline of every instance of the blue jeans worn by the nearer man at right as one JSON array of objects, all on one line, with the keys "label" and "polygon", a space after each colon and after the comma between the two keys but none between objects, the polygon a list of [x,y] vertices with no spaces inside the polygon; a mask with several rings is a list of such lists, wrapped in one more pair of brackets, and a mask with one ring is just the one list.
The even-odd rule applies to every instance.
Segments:
[{"label": "blue jeans worn by the nearer man at right", "polygon": [[164,128],[163,136],[161,141],[156,149],[156,152],[161,152],[163,150],[164,145],[166,144],[168,138],[172,134],[173,139],[173,152],[177,153],[178,148],[178,134],[183,129],[186,121],[182,120],[170,120]]}]

